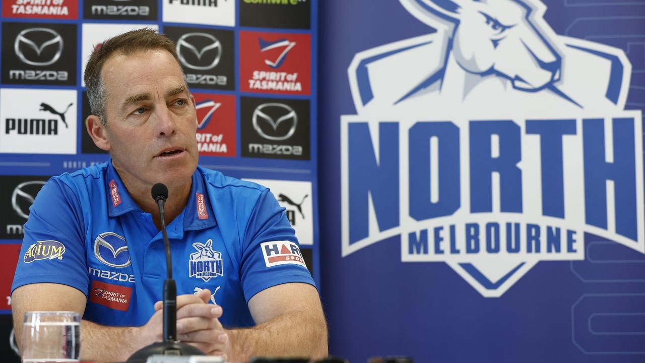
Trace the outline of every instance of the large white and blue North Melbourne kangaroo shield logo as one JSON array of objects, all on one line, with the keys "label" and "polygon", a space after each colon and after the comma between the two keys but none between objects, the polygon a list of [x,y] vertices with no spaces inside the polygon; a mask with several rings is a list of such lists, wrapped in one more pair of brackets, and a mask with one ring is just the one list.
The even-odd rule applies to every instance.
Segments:
[{"label": "large white and blue North Melbourne kangaroo shield logo", "polygon": [[645,253],[641,114],[622,50],[558,36],[537,0],[399,0],[437,32],[355,55],[341,117],[342,256],[393,236],[499,297],[591,233]]}]

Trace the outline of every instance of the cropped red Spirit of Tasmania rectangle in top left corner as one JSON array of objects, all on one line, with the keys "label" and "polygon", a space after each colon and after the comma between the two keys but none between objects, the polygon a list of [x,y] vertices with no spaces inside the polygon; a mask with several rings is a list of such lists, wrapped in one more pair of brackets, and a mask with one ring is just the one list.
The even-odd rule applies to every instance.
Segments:
[{"label": "cropped red Spirit of Tasmania rectangle in top left corner", "polygon": [[33,19],[77,19],[78,0],[3,0],[2,16]]}]

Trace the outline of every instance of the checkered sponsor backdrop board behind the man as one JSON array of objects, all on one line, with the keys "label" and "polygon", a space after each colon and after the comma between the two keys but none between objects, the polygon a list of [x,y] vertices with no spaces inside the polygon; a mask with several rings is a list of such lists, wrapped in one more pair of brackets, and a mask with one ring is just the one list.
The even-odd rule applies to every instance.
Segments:
[{"label": "checkered sponsor backdrop board behind the man", "polygon": [[[303,263],[320,283],[317,139],[312,132],[317,127],[317,79],[312,76],[317,74],[317,3],[2,1],[0,247],[7,251],[1,254],[1,296],[9,295],[23,224],[43,183],[108,160],[85,130],[88,57],[104,39],[143,27],[177,44],[197,103],[200,165],[266,181],[276,188],[276,197],[283,189],[297,191],[293,197],[284,194],[294,204],[281,203],[302,236]],[[2,305],[0,317],[7,324],[0,331],[8,337],[10,301],[3,299]],[[2,338],[0,346],[9,349],[8,340]]]}]

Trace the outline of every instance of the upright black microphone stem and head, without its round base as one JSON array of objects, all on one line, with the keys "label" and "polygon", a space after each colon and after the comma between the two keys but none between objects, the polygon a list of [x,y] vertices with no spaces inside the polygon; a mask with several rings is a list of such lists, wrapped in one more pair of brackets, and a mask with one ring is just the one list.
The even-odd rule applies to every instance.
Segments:
[{"label": "upright black microphone stem and head, without its round base", "polygon": [[166,221],[164,220],[164,203],[168,198],[168,188],[162,183],[152,187],[152,198],[159,207],[159,222],[161,223],[161,235],[166,248],[166,280],[163,283],[163,340],[174,342],[177,339],[177,285],[172,278],[172,255],[170,254],[170,241],[166,233]]}]

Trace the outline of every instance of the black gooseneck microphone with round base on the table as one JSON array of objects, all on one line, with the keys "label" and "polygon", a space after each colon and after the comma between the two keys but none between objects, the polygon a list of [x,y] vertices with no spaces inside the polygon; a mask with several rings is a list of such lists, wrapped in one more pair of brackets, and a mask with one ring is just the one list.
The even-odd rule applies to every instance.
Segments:
[{"label": "black gooseneck microphone with round base on the table", "polygon": [[152,198],[159,207],[159,220],[161,222],[161,235],[166,246],[166,280],[163,283],[163,342],[156,342],[150,346],[135,351],[128,358],[128,363],[145,363],[152,355],[204,355],[204,352],[194,346],[181,343],[177,340],[177,285],[172,279],[172,257],[170,256],[170,242],[166,234],[163,206],[168,199],[168,188],[162,183],[152,186]]}]

